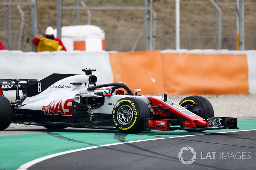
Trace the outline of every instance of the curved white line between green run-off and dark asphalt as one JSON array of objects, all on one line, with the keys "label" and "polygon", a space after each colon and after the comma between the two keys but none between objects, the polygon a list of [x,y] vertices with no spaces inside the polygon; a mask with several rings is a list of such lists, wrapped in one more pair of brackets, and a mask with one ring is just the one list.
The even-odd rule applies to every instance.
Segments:
[{"label": "curved white line between green run-off and dark asphalt", "polygon": [[[256,129],[237,130],[237,131],[229,131],[229,132],[216,132],[216,133],[232,133],[232,132],[243,132],[243,131],[252,131],[252,130],[256,130]],[[199,135],[209,135],[209,134],[212,134],[212,133],[204,133],[204,134],[196,134],[196,135],[185,135],[185,136],[177,136],[177,137],[162,137],[162,138],[156,138],[156,139],[144,139],[144,140],[136,140],[136,141],[130,141],[130,142],[123,142],[123,143],[119,142],[119,143],[114,143],[114,144],[104,144],[104,145],[100,145],[100,146],[91,146],[91,147],[87,147],[87,148],[75,149],[75,150],[71,150],[71,151],[54,153],[52,155],[44,156],[42,158],[38,158],[38,159],[32,160],[30,162],[27,162],[27,163],[21,165],[17,170],[27,170],[30,166],[33,166],[33,165],[35,165],[35,164],[37,164],[39,162],[42,162],[42,161],[44,161],[46,159],[50,159],[50,158],[53,158],[53,157],[57,157],[57,156],[68,154],[68,153],[72,153],[72,152],[79,152],[79,151],[84,151],[84,150],[89,150],[89,149],[94,149],[94,148],[99,148],[99,147],[113,146],[113,145],[118,145],[118,144],[127,144],[127,143],[144,142],[144,141],[150,141],[150,140],[178,138],[178,137],[190,137],[190,136],[199,136]]]}]

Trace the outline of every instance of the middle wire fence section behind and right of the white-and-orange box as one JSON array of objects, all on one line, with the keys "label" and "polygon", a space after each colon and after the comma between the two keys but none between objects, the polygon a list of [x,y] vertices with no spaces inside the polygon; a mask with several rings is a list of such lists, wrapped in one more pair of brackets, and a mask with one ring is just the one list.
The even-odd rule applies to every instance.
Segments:
[{"label": "middle wire fence section behind and right of the white-and-orange box", "polygon": [[[74,10],[77,6],[87,9]],[[149,36],[145,30],[150,28],[144,19],[143,6],[146,6],[143,5],[143,0],[63,0],[62,25],[100,26],[106,33],[106,50],[147,50]],[[150,20],[150,16],[146,19]]]}]

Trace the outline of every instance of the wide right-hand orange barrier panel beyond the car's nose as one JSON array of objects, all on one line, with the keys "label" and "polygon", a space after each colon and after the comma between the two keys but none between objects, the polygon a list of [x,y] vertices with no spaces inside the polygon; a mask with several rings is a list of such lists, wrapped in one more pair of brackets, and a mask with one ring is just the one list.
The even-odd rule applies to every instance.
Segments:
[{"label": "wide right-hand orange barrier panel beyond the car's nose", "polygon": [[163,53],[164,91],[175,94],[248,93],[246,55]]}]

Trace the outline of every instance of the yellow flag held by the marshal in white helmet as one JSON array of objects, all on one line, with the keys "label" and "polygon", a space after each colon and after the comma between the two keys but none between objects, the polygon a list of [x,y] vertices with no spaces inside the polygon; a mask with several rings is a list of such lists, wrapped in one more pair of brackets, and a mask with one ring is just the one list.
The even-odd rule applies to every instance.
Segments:
[{"label": "yellow flag held by the marshal in white helmet", "polygon": [[63,48],[58,41],[51,40],[45,37],[39,38],[37,35],[35,35],[35,37],[40,40],[36,52],[58,51],[62,50]]}]

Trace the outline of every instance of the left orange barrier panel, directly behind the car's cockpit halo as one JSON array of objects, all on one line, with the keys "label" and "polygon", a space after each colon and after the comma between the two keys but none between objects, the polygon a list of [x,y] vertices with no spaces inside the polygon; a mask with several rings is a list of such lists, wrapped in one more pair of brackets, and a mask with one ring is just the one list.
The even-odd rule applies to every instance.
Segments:
[{"label": "left orange barrier panel, directly behind the car's cockpit halo", "polygon": [[114,82],[124,82],[138,94],[162,94],[163,79],[160,50],[109,54]]}]

